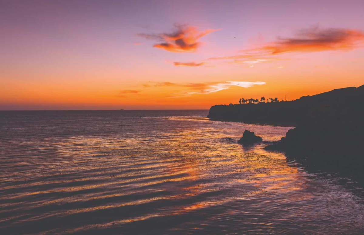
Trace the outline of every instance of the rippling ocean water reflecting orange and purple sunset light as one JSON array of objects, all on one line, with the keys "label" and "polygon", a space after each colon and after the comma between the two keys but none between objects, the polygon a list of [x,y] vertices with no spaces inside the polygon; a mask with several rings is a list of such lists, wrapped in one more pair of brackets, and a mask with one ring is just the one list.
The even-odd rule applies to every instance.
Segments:
[{"label": "rippling ocean water reflecting orange and purple sunset light", "polygon": [[355,182],[236,143],[290,127],[207,112],[0,112],[0,234],[364,233]]}]

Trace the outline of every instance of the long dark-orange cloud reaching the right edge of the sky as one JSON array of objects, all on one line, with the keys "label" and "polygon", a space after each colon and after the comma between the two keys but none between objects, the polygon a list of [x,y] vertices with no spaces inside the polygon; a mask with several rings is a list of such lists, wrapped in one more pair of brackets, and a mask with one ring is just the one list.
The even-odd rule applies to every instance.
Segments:
[{"label": "long dark-orange cloud reaching the right edge of the sky", "polygon": [[287,52],[320,52],[329,50],[351,50],[364,42],[364,33],[354,29],[318,27],[305,29],[296,37],[281,38],[260,48],[250,50],[263,54],[281,54]]}]

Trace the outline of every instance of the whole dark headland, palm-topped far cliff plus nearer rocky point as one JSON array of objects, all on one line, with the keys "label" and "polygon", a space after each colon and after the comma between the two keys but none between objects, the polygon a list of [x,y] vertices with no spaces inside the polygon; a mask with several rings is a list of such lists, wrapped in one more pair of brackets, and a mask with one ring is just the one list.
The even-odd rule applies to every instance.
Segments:
[{"label": "whole dark headland, palm-topped far cliff plus nearer rocky point", "polygon": [[281,141],[265,149],[285,151],[288,156],[308,161],[364,170],[364,85],[303,96],[294,101],[249,100],[254,102],[212,106],[207,117],[295,126]]}]

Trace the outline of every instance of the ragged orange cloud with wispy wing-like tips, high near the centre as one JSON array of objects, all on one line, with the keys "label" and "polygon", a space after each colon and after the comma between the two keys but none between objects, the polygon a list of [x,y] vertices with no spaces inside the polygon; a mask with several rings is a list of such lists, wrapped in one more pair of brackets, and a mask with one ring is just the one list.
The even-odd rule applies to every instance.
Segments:
[{"label": "ragged orange cloud with wispy wing-like tips, high near the centre", "polygon": [[219,30],[206,29],[204,31],[198,31],[197,27],[189,25],[175,25],[175,27],[174,33],[139,33],[138,36],[144,37],[145,39],[161,41],[161,43],[155,44],[154,47],[169,52],[195,52],[201,45],[201,42],[198,41],[198,39]]}]

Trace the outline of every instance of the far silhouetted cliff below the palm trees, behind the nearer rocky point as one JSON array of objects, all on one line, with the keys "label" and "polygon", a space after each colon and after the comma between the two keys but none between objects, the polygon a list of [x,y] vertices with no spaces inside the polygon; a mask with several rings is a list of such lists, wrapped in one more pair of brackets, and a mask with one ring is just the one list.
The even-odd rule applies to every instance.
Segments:
[{"label": "far silhouetted cliff below the palm trees, behind the nearer rocky point", "polygon": [[[294,101],[258,104],[214,105],[208,118],[271,124],[304,125],[305,123],[338,121],[363,115],[364,85],[335,89]],[[348,117],[352,116],[352,117]]]}]

